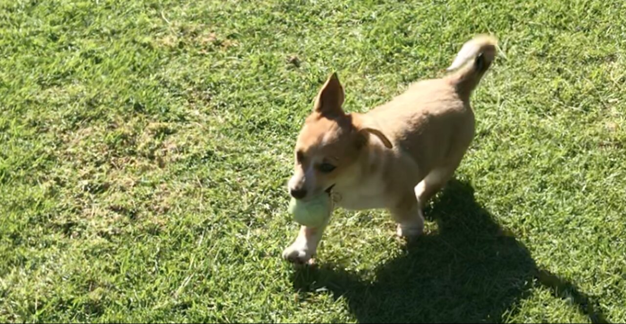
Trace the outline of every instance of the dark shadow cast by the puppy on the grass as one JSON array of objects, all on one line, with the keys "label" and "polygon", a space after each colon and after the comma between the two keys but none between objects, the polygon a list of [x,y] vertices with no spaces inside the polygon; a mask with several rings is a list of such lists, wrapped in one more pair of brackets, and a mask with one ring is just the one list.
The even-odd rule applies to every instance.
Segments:
[{"label": "dark shadow cast by the puppy on the grass", "polygon": [[329,290],[345,298],[360,323],[478,323],[506,320],[533,285],[543,285],[593,323],[608,323],[592,298],[538,268],[467,183],[451,181],[426,215],[438,230],[379,266],[373,281],[322,265],[296,270],[294,287],[304,296]]}]

